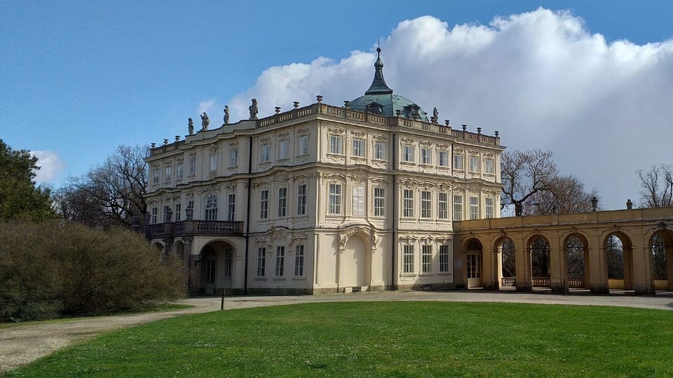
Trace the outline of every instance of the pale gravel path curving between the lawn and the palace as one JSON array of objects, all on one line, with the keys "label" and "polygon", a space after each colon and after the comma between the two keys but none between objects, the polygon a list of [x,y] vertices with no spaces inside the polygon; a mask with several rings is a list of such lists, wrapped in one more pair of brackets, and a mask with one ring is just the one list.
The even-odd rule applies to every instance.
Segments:
[{"label": "pale gravel path curving between the lawn and the palace", "polygon": [[[480,291],[456,292],[399,292],[352,293],[334,295],[304,295],[283,297],[227,297],[224,309],[276,306],[307,302],[356,302],[356,301],[451,301],[451,302],[519,302],[545,304],[583,304],[648,309],[673,309],[673,297],[657,295],[637,297],[631,295],[549,295],[540,293],[490,293]],[[169,312],[76,318],[67,321],[35,322],[0,328],[0,375],[20,365],[30,363],[64,346],[91,339],[118,328],[130,327],[184,314],[217,311],[219,297],[198,297],[177,301],[194,307]]]}]

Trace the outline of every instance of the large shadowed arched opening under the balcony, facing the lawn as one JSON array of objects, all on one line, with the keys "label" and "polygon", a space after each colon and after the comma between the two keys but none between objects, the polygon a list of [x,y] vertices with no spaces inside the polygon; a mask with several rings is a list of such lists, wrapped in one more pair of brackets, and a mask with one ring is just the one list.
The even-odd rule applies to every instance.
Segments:
[{"label": "large shadowed arched opening under the balcony, facing the lawn", "polygon": [[229,293],[233,288],[233,246],[226,241],[211,241],[201,249],[199,292]]}]

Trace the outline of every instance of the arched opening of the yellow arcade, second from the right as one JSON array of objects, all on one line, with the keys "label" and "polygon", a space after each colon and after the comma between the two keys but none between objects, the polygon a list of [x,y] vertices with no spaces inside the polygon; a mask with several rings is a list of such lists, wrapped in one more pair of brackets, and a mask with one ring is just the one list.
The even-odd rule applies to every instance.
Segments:
[{"label": "arched opening of the yellow arcade, second from the right", "polygon": [[629,237],[613,232],[604,242],[605,260],[608,269],[608,288],[633,290],[633,253]]}]

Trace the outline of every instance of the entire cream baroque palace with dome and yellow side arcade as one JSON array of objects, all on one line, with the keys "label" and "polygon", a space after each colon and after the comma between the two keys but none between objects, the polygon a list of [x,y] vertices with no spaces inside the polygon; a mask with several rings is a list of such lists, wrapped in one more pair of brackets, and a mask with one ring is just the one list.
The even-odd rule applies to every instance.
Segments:
[{"label": "entire cream baroque palace with dome and yellow side arcade", "polygon": [[[605,292],[619,284],[654,290],[655,279],[639,260],[651,242],[634,252],[646,237],[629,239],[618,226],[648,218],[641,210],[608,216],[607,231],[597,231],[603,225],[593,218],[489,219],[500,216],[498,132],[454,130],[448,120],[438,122],[436,109],[428,119],[420,106],[393,94],[377,51],[372,85],[344,106],[317,96],[314,104],[295,102],[290,111],[277,107],[258,119],[253,99],[248,120],[229,123],[225,108],[224,124],[211,129],[203,113],[198,132],[190,118],[184,140],[152,146],[145,233],[184,260],[192,294],[540,285]],[[588,214],[604,213],[611,212]],[[648,237],[662,230],[657,235],[668,241],[669,265],[670,213],[636,224],[645,234],[654,225]],[[578,231],[578,222],[590,224],[590,235]],[[554,225],[556,233],[538,223]],[[564,241],[557,241],[560,228]],[[620,283],[610,281],[601,247],[612,235],[621,237],[630,259]],[[584,243],[581,279],[568,274],[566,244],[580,245],[569,237]],[[516,277],[503,273],[508,253]],[[535,253],[545,256],[539,272]]]}]

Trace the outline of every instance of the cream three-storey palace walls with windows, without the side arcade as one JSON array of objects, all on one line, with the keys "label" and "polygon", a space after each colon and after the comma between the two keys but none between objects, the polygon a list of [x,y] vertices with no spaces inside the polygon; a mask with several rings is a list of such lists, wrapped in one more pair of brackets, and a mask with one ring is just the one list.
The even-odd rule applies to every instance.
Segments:
[{"label": "cream three-storey palace walls with windows, without the side arcade", "polygon": [[500,213],[497,132],[297,105],[151,148],[147,236],[191,292],[456,287],[454,221]]}]

